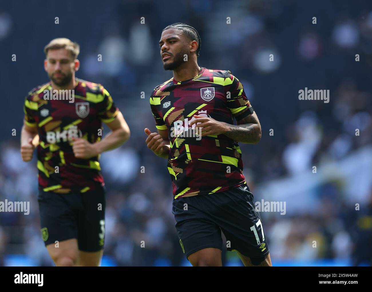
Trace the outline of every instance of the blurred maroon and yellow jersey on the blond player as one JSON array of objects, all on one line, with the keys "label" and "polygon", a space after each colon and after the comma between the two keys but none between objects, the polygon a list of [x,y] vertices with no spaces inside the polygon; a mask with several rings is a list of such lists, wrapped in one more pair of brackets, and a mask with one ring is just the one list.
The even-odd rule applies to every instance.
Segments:
[{"label": "blurred maroon and yellow jersey on the blond player", "polygon": [[51,89],[54,91],[51,82],[34,88],[23,106],[25,123],[37,127],[39,134],[39,189],[68,193],[103,186],[99,155],[76,158],[72,138],[83,138],[90,143],[100,141],[102,122],[112,122],[118,108],[101,84],[76,78],[72,103],[67,98],[53,100]]}]

